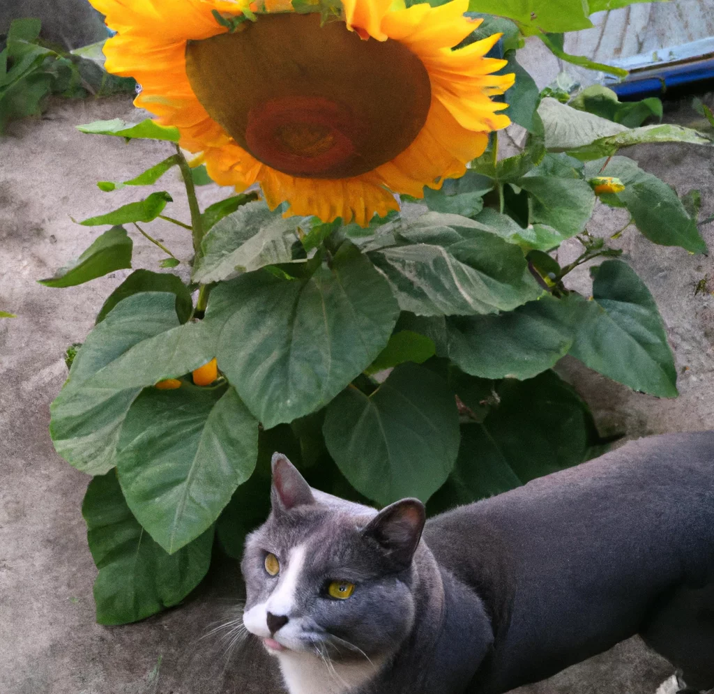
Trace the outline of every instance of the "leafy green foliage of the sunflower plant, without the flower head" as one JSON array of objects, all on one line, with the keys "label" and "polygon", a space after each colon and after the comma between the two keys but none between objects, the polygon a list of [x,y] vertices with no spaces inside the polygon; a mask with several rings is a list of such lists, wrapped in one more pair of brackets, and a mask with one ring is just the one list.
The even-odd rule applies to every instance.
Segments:
[{"label": "leafy green foliage of the sunflower plant, without the flower head", "polygon": [[[532,16],[552,31],[588,20],[548,2],[526,14],[516,4],[474,2],[516,22],[486,16],[472,38],[506,34],[505,70],[518,75],[509,113],[529,133],[522,151],[499,158],[494,134],[465,176],[425,189],[418,213],[367,228],[283,218],[255,193],[201,211],[205,172],[191,170],[176,129],[80,127],[164,141],[159,164],[99,187],[153,184],[177,167],[191,220],[167,214],[161,191],[86,219],[110,228],[42,282],[74,286],[131,268],[130,233],[175,266],[145,228],[157,218],[190,233],[194,252],[188,284],[136,269],[111,293],[51,406],[56,450],[94,476],[83,513],[100,623],[179,603],[206,574],[216,536],[240,555],[268,512],[273,451],[324,491],[377,505],[416,496],[434,512],[603,450],[588,406],[552,370],[566,354],[635,391],[677,395],[655,301],[592,217],[595,206],[622,208],[653,243],[705,253],[698,196],[680,199],[618,150],[710,141],[643,126],[660,115],[653,101],[620,104],[608,90],[567,94],[569,104],[541,97],[515,58]],[[562,52],[557,36],[543,36]],[[561,265],[568,239],[581,253]],[[568,274],[592,261],[602,262],[583,296]],[[192,376],[214,358],[215,374]]]}]

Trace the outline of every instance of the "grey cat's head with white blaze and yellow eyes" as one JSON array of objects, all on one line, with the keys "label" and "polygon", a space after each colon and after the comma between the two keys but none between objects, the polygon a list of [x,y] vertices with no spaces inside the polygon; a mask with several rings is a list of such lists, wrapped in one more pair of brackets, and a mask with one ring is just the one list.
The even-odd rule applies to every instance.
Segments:
[{"label": "grey cat's head with white blaze and yellow eyes", "polygon": [[403,499],[378,513],[311,489],[276,453],[271,503],[241,564],[248,631],[278,656],[358,659],[396,651],[414,621],[421,502]]}]

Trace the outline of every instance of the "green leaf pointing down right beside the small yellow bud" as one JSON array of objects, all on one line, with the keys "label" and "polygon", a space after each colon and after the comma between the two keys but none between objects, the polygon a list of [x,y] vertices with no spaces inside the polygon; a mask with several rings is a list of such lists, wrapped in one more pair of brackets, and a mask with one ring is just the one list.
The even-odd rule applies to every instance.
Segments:
[{"label": "green leaf pointing down right beside the small yellow bud", "polygon": [[681,246],[691,253],[707,252],[696,219],[688,215],[672,188],[640,169],[632,159],[615,156],[610,161],[591,161],[585,167],[585,176],[620,178],[625,190],[614,193],[615,199],[628,208],[637,228],[653,243]]}]

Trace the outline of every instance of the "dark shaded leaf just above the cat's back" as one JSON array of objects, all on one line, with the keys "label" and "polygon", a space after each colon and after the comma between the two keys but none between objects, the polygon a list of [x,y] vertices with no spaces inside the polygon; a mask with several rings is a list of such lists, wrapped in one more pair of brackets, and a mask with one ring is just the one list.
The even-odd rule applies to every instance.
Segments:
[{"label": "dark shaded leaf just above the cat's back", "polygon": [[482,423],[461,426],[453,473],[430,504],[443,511],[582,463],[599,446],[593,416],[553,371],[502,381]]}]

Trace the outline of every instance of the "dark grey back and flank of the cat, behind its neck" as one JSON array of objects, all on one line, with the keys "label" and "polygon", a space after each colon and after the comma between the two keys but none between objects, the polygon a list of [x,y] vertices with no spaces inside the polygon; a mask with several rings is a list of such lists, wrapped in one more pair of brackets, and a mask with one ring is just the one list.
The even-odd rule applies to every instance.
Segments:
[{"label": "dark grey back and flank of the cat, behind its neck", "polygon": [[436,516],[424,539],[493,618],[480,690],[535,681],[636,633],[673,585],[714,581],[714,432],[627,443]]}]

